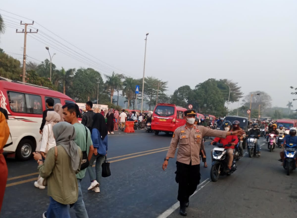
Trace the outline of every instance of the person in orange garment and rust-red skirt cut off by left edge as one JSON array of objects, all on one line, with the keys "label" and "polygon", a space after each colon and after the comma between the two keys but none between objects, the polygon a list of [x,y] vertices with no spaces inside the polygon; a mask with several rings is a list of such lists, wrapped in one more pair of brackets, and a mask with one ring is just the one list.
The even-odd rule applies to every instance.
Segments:
[{"label": "person in orange garment and rust-red skirt cut off by left edge", "polygon": [[8,114],[7,111],[0,107],[0,213],[7,182],[8,169],[5,158],[3,156],[3,147],[9,137],[9,127],[7,124]]}]

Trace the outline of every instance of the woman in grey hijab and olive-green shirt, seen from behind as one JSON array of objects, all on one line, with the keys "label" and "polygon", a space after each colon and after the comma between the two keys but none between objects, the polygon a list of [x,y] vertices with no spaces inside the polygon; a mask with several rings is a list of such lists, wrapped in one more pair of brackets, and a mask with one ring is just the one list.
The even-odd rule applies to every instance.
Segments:
[{"label": "woman in grey hijab and olive-green shirt, seen from behind", "polygon": [[48,180],[50,205],[43,213],[43,217],[70,218],[68,205],[71,206],[78,199],[78,183],[75,174],[80,170],[83,154],[73,141],[74,126],[66,122],[57,123],[53,127],[53,134],[57,146],[48,151],[45,161],[41,159],[40,153],[34,153],[40,175]]}]

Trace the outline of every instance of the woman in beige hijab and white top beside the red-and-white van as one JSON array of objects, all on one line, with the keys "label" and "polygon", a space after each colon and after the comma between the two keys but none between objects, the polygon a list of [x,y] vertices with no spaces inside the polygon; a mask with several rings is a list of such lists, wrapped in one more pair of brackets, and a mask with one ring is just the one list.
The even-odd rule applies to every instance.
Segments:
[{"label": "woman in beige hijab and white top beside the red-and-white van", "polygon": [[[56,105],[55,105],[55,108],[56,108]],[[40,154],[43,160],[45,159],[46,154],[48,153],[48,150],[56,146],[56,140],[53,135],[53,126],[55,126],[57,123],[60,122],[61,117],[58,113],[54,111],[48,111],[48,113],[46,114],[45,120],[46,120],[46,123],[45,123],[45,126],[43,127],[42,140],[40,145]],[[34,186],[36,188],[45,189],[45,186],[42,185],[43,180],[44,178],[42,178],[39,175],[37,181],[34,182]]]}]

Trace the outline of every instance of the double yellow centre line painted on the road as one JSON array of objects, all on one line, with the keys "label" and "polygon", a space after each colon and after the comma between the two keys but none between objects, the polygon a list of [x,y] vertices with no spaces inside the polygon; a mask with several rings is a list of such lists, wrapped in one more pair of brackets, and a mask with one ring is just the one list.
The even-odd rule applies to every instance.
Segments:
[{"label": "double yellow centre line painted on the road", "polygon": [[[166,148],[166,149],[164,149],[164,148]],[[118,161],[123,161],[123,160],[127,160],[127,159],[132,159],[132,158],[141,157],[141,156],[145,156],[145,155],[154,154],[154,153],[158,153],[158,152],[162,152],[162,151],[167,151],[168,150],[168,147],[164,147],[164,148],[158,148],[158,149],[153,149],[153,150],[148,150],[148,151],[142,151],[142,152],[132,153],[132,154],[129,154],[129,155],[122,155],[122,156],[113,157],[113,158],[119,158],[119,157],[130,156],[130,155],[133,155],[133,154],[144,153],[144,154],[130,156],[130,157],[126,157],[126,158],[122,158],[122,159],[117,159],[117,160],[113,160],[113,161],[109,161],[109,162],[110,163],[114,163],[114,162],[118,162]],[[160,149],[162,149],[162,150],[160,150]],[[149,151],[153,151],[153,152],[149,152]],[[145,153],[145,152],[149,152],[149,153]],[[109,158],[109,159],[112,159],[112,158]],[[95,164],[93,165],[93,167],[95,167]],[[20,176],[8,178],[7,181],[11,181],[11,180],[18,179],[18,178],[24,178],[24,177],[28,177],[28,176],[32,176],[32,175],[38,175],[38,174],[39,174],[39,172],[34,172],[34,173],[26,174],[26,175],[20,175]],[[38,178],[31,178],[31,179],[27,179],[27,180],[22,180],[22,181],[18,181],[18,182],[9,183],[9,184],[6,185],[6,187],[15,186],[15,185],[19,185],[19,184],[23,184],[23,183],[31,182],[31,181],[37,181],[37,179]]]}]

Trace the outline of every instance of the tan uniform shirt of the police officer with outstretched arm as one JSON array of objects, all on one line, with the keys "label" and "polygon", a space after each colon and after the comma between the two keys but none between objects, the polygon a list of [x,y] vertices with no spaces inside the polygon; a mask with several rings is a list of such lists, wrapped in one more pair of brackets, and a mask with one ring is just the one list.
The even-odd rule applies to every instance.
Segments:
[{"label": "tan uniform shirt of the police officer with outstretched arm", "polygon": [[226,138],[227,131],[197,125],[190,129],[185,124],[173,133],[166,157],[174,158],[177,145],[179,145],[176,156],[178,162],[190,164],[192,161],[192,165],[200,164],[201,141],[206,136]]}]

